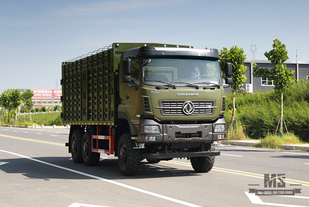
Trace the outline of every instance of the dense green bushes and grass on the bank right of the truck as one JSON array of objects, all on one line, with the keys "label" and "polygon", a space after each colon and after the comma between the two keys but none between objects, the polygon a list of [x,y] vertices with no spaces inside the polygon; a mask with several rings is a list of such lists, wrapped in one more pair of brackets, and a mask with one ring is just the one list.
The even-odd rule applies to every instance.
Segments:
[{"label": "dense green bushes and grass on the bank right of the truck", "polygon": [[[249,94],[239,93],[235,99],[237,113],[235,114],[235,133],[231,134],[232,95],[226,95],[225,121],[228,124],[227,140],[260,139],[264,146],[273,148],[282,143],[309,142],[309,80],[299,80],[286,88],[283,93],[283,117],[290,138],[286,134],[280,137],[277,130],[280,118],[281,93],[275,90]],[[230,124],[229,124],[230,123]],[[277,136],[275,133],[277,130]],[[285,138],[287,137],[287,138]],[[280,141],[280,142],[279,142]]]}]

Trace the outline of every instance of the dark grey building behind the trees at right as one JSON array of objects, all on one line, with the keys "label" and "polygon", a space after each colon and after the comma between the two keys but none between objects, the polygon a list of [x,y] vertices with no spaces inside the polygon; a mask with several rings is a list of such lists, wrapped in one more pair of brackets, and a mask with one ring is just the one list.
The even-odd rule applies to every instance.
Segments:
[{"label": "dark grey building behind the trees at right", "polygon": [[[252,63],[256,63],[260,68],[273,68],[273,64],[269,60],[245,60],[244,65],[247,66],[245,74],[247,80],[243,84],[243,89],[249,93],[265,92],[275,88],[272,81],[267,80],[267,78],[253,77]],[[305,61],[286,61],[287,69],[294,70],[295,80],[308,79],[309,78],[309,62]],[[226,93],[231,93],[231,88],[225,89]]]}]

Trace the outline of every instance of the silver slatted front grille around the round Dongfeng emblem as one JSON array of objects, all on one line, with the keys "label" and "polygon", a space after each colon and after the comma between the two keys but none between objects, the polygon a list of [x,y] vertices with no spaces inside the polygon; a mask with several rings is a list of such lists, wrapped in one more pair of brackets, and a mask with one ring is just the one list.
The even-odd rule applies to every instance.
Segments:
[{"label": "silver slatted front grille around the round Dongfeng emblem", "polygon": [[[188,100],[159,100],[159,108],[162,116],[183,116],[186,115],[183,111],[183,104]],[[195,116],[210,116],[214,114],[214,109],[217,108],[215,100],[192,100],[194,111],[190,115]]]}]

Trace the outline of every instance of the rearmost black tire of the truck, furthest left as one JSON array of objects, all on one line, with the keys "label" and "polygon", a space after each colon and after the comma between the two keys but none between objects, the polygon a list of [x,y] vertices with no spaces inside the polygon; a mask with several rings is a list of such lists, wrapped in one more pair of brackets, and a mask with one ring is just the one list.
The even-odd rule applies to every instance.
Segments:
[{"label": "rearmost black tire of the truck, furthest left", "polygon": [[83,163],[83,155],[82,155],[82,139],[84,130],[75,130],[72,134],[71,139],[71,155],[72,159],[75,163]]}]

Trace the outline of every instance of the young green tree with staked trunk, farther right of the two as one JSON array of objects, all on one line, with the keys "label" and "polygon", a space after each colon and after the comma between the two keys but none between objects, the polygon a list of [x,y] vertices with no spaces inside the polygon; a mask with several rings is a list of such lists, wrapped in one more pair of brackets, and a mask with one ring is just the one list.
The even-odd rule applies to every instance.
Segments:
[{"label": "young green tree with staked trunk, farther right of the two", "polygon": [[293,74],[294,70],[290,71],[286,68],[286,65],[283,64],[284,61],[289,59],[288,52],[286,51],[286,46],[281,44],[278,39],[273,41],[273,50],[264,53],[265,57],[274,65],[270,70],[268,68],[259,68],[257,64],[253,64],[253,76],[254,77],[264,77],[269,81],[273,81],[275,85],[275,91],[281,93],[281,116],[279,119],[280,122],[280,136],[283,136],[283,90],[294,83],[295,78]]}]

